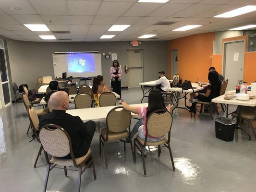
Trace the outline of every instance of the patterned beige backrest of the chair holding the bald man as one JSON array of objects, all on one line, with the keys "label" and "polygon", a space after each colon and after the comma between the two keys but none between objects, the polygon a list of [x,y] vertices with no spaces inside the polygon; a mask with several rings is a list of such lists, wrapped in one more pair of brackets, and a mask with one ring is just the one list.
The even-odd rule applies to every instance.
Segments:
[{"label": "patterned beige backrest of the chair holding the bald man", "polygon": [[45,152],[51,156],[63,157],[70,153],[70,137],[58,125],[47,124],[41,127],[39,139]]}]

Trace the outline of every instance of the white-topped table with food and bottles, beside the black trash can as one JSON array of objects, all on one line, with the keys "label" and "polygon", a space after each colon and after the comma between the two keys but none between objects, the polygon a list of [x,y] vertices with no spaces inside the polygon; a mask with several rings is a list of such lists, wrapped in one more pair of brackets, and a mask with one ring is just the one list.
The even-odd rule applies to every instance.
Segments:
[{"label": "white-topped table with food and bottles, beside the black trash can", "polygon": [[[250,93],[248,91],[248,93]],[[221,104],[226,104],[227,105],[227,108],[226,108],[226,117],[228,118],[229,116],[229,105],[237,105],[238,108],[240,106],[247,106],[247,107],[256,107],[256,98],[254,99],[249,99],[249,100],[246,100],[246,101],[243,101],[243,100],[237,100],[235,98],[233,99],[224,99],[225,95],[222,95],[222,96],[218,96],[214,99],[211,100],[211,102],[213,103],[221,103]],[[240,126],[240,128],[242,130],[244,130],[244,132],[249,136],[249,140],[251,140],[251,135],[249,134],[249,132],[247,132],[244,127],[242,126],[242,124],[240,123],[240,117],[241,117],[241,110],[239,110],[239,117],[238,117],[238,124]]]}]

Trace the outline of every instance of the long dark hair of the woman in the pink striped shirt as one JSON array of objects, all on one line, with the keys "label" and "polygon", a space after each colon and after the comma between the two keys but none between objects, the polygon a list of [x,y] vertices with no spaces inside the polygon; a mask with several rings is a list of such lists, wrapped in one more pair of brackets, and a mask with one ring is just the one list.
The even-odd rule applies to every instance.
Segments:
[{"label": "long dark hair of the woman in the pink striped shirt", "polygon": [[161,91],[153,88],[148,95],[148,107],[146,108],[146,117],[154,110],[166,109]]}]

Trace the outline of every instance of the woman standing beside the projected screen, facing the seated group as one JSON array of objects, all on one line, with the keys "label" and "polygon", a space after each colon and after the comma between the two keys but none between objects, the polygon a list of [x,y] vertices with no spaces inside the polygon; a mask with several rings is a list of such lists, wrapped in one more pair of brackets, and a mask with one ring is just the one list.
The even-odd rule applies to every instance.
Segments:
[{"label": "woman standing beside the projected screen, facing the seated group", "polygon": [[113,65],[110,68],[111,75],[111,87],[113,88],[113,92],[120,95],[121,99],[121,78],[122,78],[122,69],[117,60],[113,60]]}]

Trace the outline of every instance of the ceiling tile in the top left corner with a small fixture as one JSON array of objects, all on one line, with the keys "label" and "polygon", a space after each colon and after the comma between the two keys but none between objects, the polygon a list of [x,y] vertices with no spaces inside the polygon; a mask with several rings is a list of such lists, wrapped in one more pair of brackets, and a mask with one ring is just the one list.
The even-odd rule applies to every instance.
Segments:
[{"label": "ceiling tile in the top left corner with a small fixture", "polygon": [[[1,10],[8,14],[37,14],[27,0],[0,0]],[[11,11],[10,8],[19,7],[20,10]]]}]

